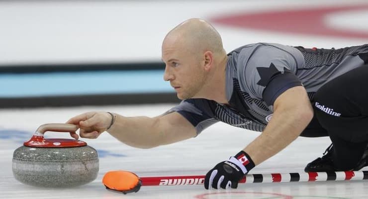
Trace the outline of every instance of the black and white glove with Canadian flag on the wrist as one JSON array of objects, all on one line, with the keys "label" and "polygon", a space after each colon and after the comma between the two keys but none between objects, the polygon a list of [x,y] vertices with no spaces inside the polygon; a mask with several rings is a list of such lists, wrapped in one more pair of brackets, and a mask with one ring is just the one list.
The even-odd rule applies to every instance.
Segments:
[{"label": "black and white glove with Canadian flag on the wrist", "polygon": [[249,170],[255,167],[252,159],[244,151],[240,151],[234,157],[230,157],[229,160],[218,163],[213,169],[211,169],[204,178],[204,188],[212,187],[215,189],[233,188],[238,187],[238,182]]}]

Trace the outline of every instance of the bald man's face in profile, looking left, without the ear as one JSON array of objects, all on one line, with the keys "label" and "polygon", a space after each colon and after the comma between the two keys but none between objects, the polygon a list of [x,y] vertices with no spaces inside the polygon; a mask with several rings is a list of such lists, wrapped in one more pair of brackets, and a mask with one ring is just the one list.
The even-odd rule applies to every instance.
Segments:
[{"label": "bald man's face in profile, looking left, without the ear", "polygon": [[165,62],[164,80],[177,92],[179,99],[195,97],[205,83],[205,71],[197,49],[178,41],[165,41],[162,46],[162,60]]}]

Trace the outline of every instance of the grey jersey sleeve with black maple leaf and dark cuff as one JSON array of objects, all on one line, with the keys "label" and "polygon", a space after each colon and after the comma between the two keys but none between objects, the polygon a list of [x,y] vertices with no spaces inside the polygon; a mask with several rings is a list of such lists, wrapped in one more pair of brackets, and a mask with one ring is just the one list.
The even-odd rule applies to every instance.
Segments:
[{"label": "grey jersey sleeve with black maple leaf and dark cuff", "polygon": [[[291,48],[291,47],[290,47]],[[264,100],[268,105],[274,105],[279,95],[287,89],[302,86],[296,77],[296,59],[291,52],[275,46],[262,46],[255,50],[245,63],[243,71],[245,90],[251,97]]]}]

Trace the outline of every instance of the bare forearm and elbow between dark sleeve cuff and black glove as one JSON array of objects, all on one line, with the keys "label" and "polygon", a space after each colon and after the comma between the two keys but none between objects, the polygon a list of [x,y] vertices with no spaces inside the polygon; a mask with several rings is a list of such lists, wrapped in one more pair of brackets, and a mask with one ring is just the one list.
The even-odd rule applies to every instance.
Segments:
[{"label": "bare forearm and elbow between dark sleeve cuff and black glove", "polygon": [[295,140],[312,117],[313,109],[304,87],[290,88],[276,99],[271,121],[244,151],[258,165]]}]

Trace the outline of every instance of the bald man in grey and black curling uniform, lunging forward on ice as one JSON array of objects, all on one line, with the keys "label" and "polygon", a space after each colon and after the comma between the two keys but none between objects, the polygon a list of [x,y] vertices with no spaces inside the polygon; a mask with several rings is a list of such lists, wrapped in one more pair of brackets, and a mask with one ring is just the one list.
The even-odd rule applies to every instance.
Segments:
[{"label": "bald man in grey and black curling uniform, lunging forward on ice", "polygon": [[[178,106],[154,118],[88,112],[68,123],[80,125],[81,137],[107,131],[139,148],[195,137],[218,121],[262,131],[207,173],[206,189],[237,188],[253,167],[299,135],[329,135],[333,142],[329,153],[305,171],[366,166],[368,45],[325,50],[258,43],[226,54],[214,27],[189,19],[167,34],[162,59],[164,80],[183,100]],[[75,132],[71,135],[78,139]]]}]

